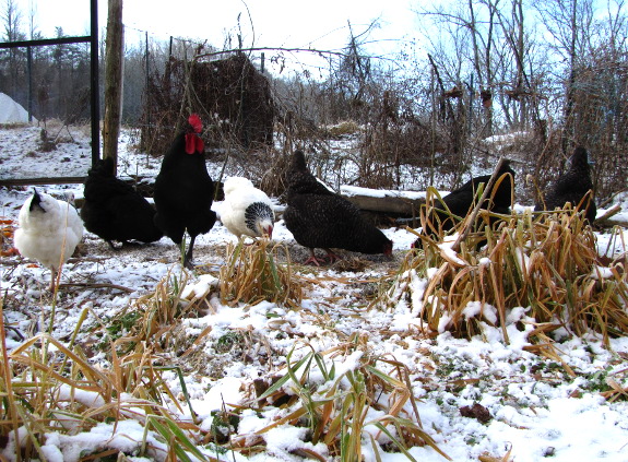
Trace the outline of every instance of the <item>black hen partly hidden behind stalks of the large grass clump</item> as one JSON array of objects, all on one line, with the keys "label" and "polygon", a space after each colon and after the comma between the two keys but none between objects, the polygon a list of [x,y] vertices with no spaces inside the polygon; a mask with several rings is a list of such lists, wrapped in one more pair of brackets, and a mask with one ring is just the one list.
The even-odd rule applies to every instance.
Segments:
[{"label": "black hen partly hidden behind stalks of the large grass clump", "polygon": [[[509,176],[503,177],[503,175],[509,174]],[[476,200],[478,199],[478,189],[481,185],[485,187],[490,180],[490,175],[482,175],[474,177],[462,185],[460,188],[454,189],[445,198],[442,198],[442,203],[436,203],[434,209],[428,214],[429,222],[438,227],[440,223],[440,229],[443,233],[449,232],[457,224],[455,218],[450,216],[449,213],[445,212],[449,209],[451,214],[464,217],[475,206]],[[482,209],[499,213],[499,214],[510,214],[510,208],[512,206],[512,189],[514,183],[514,170],[510,168],[510,162],[505,161],[501,167],[497,171],[496,181],[493,183],[491,189],[488,191]],[[447,208],[445,206],[447,205]],[[493,224],[497,221],[496,217],[490,217],[489,223]],[[426,230],[424,229],[424,234]],[[431,234],[431,233],[429,233]],[[418,238],[413,247],[420,247],[422,241]]]}]

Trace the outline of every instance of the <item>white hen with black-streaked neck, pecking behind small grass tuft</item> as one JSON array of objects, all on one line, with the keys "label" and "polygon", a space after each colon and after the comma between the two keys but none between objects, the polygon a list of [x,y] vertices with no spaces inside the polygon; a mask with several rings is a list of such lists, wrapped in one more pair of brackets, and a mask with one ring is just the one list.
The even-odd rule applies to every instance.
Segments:
[{"label": "white hen with black-streaked neck, pecking behind small grass tuft", "polygon": [[225,201],[221,208],[221,222],[234,235],[273,237],[275,213],[265,192],[247,178],[230,177],[224,185]]}]

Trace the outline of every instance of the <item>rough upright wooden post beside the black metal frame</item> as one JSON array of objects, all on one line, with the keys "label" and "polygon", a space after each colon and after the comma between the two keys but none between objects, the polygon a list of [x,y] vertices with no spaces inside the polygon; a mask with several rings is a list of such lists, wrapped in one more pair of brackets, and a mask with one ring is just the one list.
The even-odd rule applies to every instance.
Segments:
[{"label": "rough upright wooden post beside the black metal frame", "polygon": [[109,0],[107,19],[107,49],[105,54],[105,120],[103,127],[103,157],[118,164],[118,135],[122,107],[123,55],[122,0]]}]

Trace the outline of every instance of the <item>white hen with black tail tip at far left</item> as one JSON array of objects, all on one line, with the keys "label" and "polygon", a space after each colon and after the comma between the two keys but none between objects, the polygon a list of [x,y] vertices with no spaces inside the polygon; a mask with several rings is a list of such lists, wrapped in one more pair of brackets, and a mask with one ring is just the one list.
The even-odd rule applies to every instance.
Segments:
[{"label": "white hen with black tail tip at far left", "polygon": [[50,269],[49,288],[54,291],[57,271],[83,237],[83,222],[76,209],[35,190],[22,205],[19,222],[15,247],[23,257],[35,259]]}]

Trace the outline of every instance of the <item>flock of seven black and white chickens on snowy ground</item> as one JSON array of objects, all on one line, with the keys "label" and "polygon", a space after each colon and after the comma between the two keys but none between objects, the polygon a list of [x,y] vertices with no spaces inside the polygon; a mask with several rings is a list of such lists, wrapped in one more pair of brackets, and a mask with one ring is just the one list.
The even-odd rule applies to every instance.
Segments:
[{"label": "flock of seven black and white chickens on snowy ground", "polygon": [[[26,200],[19,215],[20,227],[14,244],[22,256],[50,268],[50,289],[55,289],[58,270],[68,261],[83,236],[83,226],[106,240],[125,245],[130,240],[152,242],[163,236],[181,247],[183,235],[190,236],[188,250],[181,247],[183,265],[192,268],[192,252],[198,235],[208,233],[217,220],[212,211],[214,183],[208,174],[204,145],[199,137],[201,120],[188,119],[188,127],[173,142],[155,179],[151,205],[131,186],[116,178],[111,158],[99,161],[85,180],[81,214],[69,204],[37,190]],[[595,218],[588,153],[577,147],[568,171],[559,177],[535,210],[564,208],[567,202],[585,209],[585,217]],[[454,227],[454,216],[464,217],[476,200],[481,183],[488,190],[481,208],[497,214],[509,214],[512,205],[514,171],[508,162],[491,176],[471,179],[452,191],[429,216],[439,230]],[[269,197],[246,178],[228,178],[224,185],[225,201],[220,220],[234,235],[272,238],[275,215]],[[295,240],[310,250],[304,264],[340,259],[332,249],[362,253],[392,254],[392,241],[367,221],[359,209],[320,182],[307,168],[301,151],[293,154],[287,175],[287,206],[283,218]],[[491,218],[498,220],[498,218]],[[437,233],[435,228],[424,233]],[[420,245],[417,239],[414,247]],[[320,258],[315,249],[327,251]]]}]

